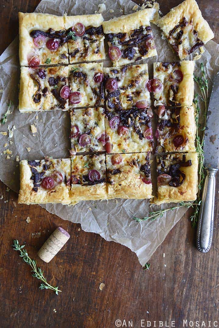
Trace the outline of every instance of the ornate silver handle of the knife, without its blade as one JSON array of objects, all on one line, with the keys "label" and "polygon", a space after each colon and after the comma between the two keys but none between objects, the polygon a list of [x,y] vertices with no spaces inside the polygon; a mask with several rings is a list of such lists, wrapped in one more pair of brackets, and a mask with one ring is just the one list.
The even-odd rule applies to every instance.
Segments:
[{"label": "ornate silver handle of the knife, without its blade", "polygon": [[197,248],[202,253],[207,253],[211,247],[217,169],[206,169],[206,172],[196,239]]}]

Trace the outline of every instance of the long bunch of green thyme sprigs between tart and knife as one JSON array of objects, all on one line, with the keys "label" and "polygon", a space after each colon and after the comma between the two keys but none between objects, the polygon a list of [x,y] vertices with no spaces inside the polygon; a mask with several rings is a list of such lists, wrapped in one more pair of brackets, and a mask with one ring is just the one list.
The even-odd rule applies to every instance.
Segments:
[{"label": "long bunch of green thyme sprigs between tart and knife", "polygon": [[196,152],[198,154],[198,161],[199,161],[199,168],[198,168],[198,194],[197,194],[197,200],[196,203],[190,203],[190,202],[181,202],[179,205],[170,207],[166,210],[160,210],[156,212],[149,212],[149,216],[145,216],[142,219],[133,217],[133,219],[136,222],[141,222],[144,220],[155,220],[158,217],[162,217],[165,212],[168,211],[173,211],[175,209],[178,209],[180,207],[186,206],[186,207],[192,207],[194,209],[193,214],[190,216],[190,220],[192,222],[192,227],[196,227],[197,222],[198,222],[198,216],[199,216],[199,209],[200,205],[202,202],[201,199],[201,192],[203,189],[204,185],[204,180],[205,180],[205,173],[204,173],[204,151],[203,151],[203,146],[204,146],[204,137],[205,137],[205,129],[206,129],[206,121],[207,121],[207,113],[208,113],[208,107],[207,107],[207,102],[208,102],[208,79],[206,78],[206,72],[204,69],[204,64],[200,64],[200,69],[201,69],[201,76],[194,76],[195,82],[198,84],[199,90],[201,92],[202,98],[201,100],[204,102],[204,122],[202,124],[203,128],[200,129],[200,123],[199,123],[199,114],[200,114],[200,107],[199,107],[199,100],[198,100],[198,93],[194,95],[194,100],[193,104],[195,107],[195,124],[196,124]]}]

